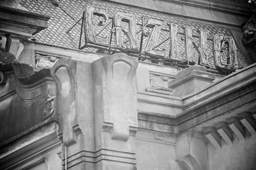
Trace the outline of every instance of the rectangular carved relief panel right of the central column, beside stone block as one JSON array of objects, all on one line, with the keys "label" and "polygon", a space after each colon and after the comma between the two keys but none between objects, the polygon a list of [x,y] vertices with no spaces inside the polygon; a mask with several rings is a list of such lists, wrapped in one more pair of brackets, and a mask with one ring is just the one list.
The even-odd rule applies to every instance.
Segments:
[{"label": "rectangular carved relief panel right of the central column, beside stone block", "polygon": [[155,76],[154,74],[150,74],[150,88],[148,88],[147,91],[172,96],[173,90],[168,87],[168,82],[170,81],[172,81],[172,79],[168,76]]}]

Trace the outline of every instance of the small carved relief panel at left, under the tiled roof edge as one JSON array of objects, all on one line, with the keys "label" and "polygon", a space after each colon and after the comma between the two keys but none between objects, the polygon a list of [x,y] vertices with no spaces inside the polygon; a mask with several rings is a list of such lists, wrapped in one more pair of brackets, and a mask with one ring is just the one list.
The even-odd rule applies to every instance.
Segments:
[{"label": "small carved relief panel at left, under the tiled roof edge", "polygon": [[57,61],[57,57],[53,56],[42,56],[36,53],[36,69],[51,68]]}]

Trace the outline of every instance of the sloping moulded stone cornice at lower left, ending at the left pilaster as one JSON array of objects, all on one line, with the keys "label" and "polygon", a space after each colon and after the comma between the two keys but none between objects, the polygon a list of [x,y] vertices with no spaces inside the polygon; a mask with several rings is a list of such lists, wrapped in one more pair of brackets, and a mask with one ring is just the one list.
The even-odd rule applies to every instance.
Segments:
[{"label": "sloping moulded stone cornice at lower left, ending at the left pilaster", "polygon": [[56,129],[58,121],[51,118],[1,143],[0,168],[13,169],[45,150],[60,146]]}]

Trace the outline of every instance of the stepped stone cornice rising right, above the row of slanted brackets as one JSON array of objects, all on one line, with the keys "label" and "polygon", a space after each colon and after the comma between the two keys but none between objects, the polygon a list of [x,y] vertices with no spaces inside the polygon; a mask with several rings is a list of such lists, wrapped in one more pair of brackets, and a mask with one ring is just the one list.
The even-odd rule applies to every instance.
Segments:
[{"label": "stepped stone cornice rising right, above the row of slanted brackets", "polygon": [[[255,107],[256,101],[255,69],[256,64],[252,64],[216,81],[193,96],[184,97],[184,111],[179,115],[139,110],[139,128],[179,134],[193,127],[200,127],[205,122],[211,124],[215,118],[223,117],[225,120],[250,110]],[[161,130],[159,127],[165,129]]]}]

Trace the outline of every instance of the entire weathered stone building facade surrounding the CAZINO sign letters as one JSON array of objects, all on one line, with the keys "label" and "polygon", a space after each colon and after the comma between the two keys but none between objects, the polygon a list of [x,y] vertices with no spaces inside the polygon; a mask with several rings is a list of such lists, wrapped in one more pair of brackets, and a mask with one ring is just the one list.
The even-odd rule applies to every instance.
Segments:
[{"label": "entire weathered stone building facade surrounding the CAZINO sign letters", "polygon": [[[256,169],[256,64],[241,43],[249,5],[239,0],[6,2],[0,3],[0,169]],[[169,37],[168,22],[208,29],[210,66],[147,56],[143,50],[140,55],[92,46],[77,50],[79,18],[88,5],[108,8],[109,18],[121,11],[164,20],[157,44]],[[138,20],[136,29],[141,24]],[[192,33],[195,45],[204,48],[202,37]],[[177,34],[179,56],[186,58],[188,32],[179,28]],[[214,67],[216,34],[234,39],[236,69]],[[142,49],[147,41],[141,41]],[[189,55],[197,60],[200,53]],[[226,66],[233,62],[223,60]]]}]

